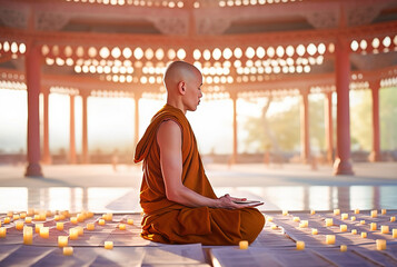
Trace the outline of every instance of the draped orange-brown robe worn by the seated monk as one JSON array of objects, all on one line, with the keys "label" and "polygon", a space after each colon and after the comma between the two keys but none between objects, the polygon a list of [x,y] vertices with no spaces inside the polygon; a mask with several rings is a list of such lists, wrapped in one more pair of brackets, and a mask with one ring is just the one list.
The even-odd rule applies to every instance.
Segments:
[{"label": "draped orange-brown robe worn by the seated monk", "polygon": [[166,105],[151,119],[135,155],[135,162],[143,160],[140,205],[145,216],[141,236],[165,244],[252,243],[265,224],[262,214],[256,208],[191,208],[167,199],[157,131],[161,122],[170,119],[180,126],[182,134],[182,184],[205,197],[217,198],[205,174],[189,121],[181,110]]}]

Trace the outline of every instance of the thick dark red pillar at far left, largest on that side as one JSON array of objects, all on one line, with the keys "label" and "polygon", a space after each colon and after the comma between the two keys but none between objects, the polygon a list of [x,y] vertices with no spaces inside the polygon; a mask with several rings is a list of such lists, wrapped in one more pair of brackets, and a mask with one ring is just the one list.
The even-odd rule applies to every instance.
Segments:
[{"label": "thick dark red pillar at far left, largest on that side", "polygon": [[28,167],[24,176],[42,177],[40,166],[39,95],[41,72],[40,47],[28,48],[24,67],[28,88]]}]

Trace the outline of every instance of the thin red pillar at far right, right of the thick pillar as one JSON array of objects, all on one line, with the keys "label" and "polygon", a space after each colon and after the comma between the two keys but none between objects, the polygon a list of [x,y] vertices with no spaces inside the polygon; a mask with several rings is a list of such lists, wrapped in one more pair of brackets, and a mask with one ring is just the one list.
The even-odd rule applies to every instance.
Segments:
[{"label": "thin red pillar at far right, right of the thick pillar", "polygon": [[373,151],[369,160],[380,161],[380,128],[379,128],[379,80],[369,83],[373,92]]}]

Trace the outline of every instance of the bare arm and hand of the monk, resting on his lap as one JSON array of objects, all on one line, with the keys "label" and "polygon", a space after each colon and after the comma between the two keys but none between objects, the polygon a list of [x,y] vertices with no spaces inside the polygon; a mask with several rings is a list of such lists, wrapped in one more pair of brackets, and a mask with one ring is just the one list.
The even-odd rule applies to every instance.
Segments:
[{"label": "bare arm and hand of the monk, resting on his lap", "polygon": [[182,138],[177,122],[167,120],[162,122],[157,132],[157,142],[160,147],[160,165],[166,186],[167,198],[171,201],[188,207],[214,207],[214,208],[242,208],[244,206],[232,202],[231,197],[224,196],[218,199],[204,197],[185,187],[182,177]]}]

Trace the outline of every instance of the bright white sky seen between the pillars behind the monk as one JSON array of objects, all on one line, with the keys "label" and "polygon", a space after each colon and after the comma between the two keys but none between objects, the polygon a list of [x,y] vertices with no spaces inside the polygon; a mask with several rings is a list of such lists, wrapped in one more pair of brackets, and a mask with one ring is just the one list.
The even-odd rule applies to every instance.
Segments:
[{"label": "bright white sky seen between the pillars behind the monk", "polygon": [[[27,135],[27,92],[22,90],[0,89],[0,151],[26,151]],[[279,112],[296,102],[295,98],[286,98],[284,102],[272,103],[270,113]],[[40,101],[42,99],[40,98]],[[140,100],[140,136],[143,135],[151,117],[160,109],[165,100]],[[248,101],[239,99],[238,139],[239,151],[245,151],[244,140],[247,131],[244,129],[248,117],[260,116],[265,99]],[[42,105],[41,105],[42,107]],[[51,93],[49,98],[49,135],[51,152],[60,149],[68,151],[69,147],[69,96]],[[76,97],[76,146],[81,152],[81,98]],[[111,152],[118,149],[132,152],[133,147],[133,99],[129,98],[96,98],[88,99],[88,140],[89,150],[101,149]],[[40,110],[42,116],[42,109]],[[232,102],[225,100],[206,100],[195,112],[187,117],[195,130],[201,154],[215,151],[227,154],[232,150]],[[42,126],[41,126],[42,127]],[[42,132],[42,131],[41,131]]]}]

